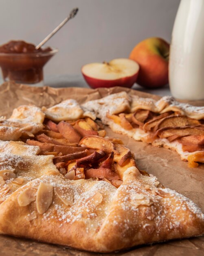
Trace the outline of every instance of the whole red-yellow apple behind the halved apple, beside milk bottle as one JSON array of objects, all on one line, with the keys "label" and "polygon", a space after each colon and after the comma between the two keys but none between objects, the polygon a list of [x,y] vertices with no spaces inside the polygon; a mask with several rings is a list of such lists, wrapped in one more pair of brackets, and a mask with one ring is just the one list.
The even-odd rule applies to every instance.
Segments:
[{"label": "whole red-yellow apple behind the halved apple, beside milk bottle", "polygon": [[169,43],[162,38],[147,38],[138,43],[129,58],[140,65],[139,85],[159,88],[168,83]]}]

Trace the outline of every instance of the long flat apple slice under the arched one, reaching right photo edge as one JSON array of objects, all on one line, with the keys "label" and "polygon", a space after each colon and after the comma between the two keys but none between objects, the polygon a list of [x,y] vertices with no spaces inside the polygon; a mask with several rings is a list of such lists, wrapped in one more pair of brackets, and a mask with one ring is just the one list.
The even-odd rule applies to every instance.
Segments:
[{"label": "long flat apple slice under the arched one, reaching right photo edge", "polygon": [[204,135],[204,125],[175,128],[164,127],[156,132],[156,135],[160,138],[168,138],[175,134],[179,135],[180,137],[188,135]]}]

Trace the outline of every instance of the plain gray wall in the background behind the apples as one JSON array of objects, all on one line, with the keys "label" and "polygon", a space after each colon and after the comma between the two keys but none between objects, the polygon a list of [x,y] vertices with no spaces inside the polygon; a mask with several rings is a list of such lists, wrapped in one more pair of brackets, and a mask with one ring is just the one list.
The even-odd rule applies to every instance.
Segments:
[{"label": "plain gray wall in the background behind the apples", "polygon": [[171,40],[180,0],[0,0],[0,44],[10,39],[39,43],[74,7],[70,20],[47,45],[59,52],[46,74],[79,74],[90,62],[128,57],[141,40]]}]

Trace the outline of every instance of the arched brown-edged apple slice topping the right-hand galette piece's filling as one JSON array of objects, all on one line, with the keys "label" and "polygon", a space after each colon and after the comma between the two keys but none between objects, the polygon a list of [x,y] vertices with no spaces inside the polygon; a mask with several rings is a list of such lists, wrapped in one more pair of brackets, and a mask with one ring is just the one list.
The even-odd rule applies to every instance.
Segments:
[{"label": "arched brown-edged apple slice topping the right-hand galette piece's filling", "polygon": [[186,117],[184,115],[171,115],[161,119],[156,126],[154,127],[154,131],[159,130],[164,127],[183,127],[189,125],[199,125],[200,121],[196,119],[192,119],[190,117]]}]

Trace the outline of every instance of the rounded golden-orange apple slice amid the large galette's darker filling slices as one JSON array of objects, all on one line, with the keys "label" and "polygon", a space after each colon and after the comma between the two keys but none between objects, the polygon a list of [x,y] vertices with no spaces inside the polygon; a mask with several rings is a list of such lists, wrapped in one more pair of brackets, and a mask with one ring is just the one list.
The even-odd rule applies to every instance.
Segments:
[{"label": "rounded golden-orange apple slice amid the large galette's darker filling slices", "polygon": [[79,145],[84,145],[88,148],[103,149],[107,153],[114,151],[114,145],[110,140],[94,135],[84,137],[79,141]]}]

